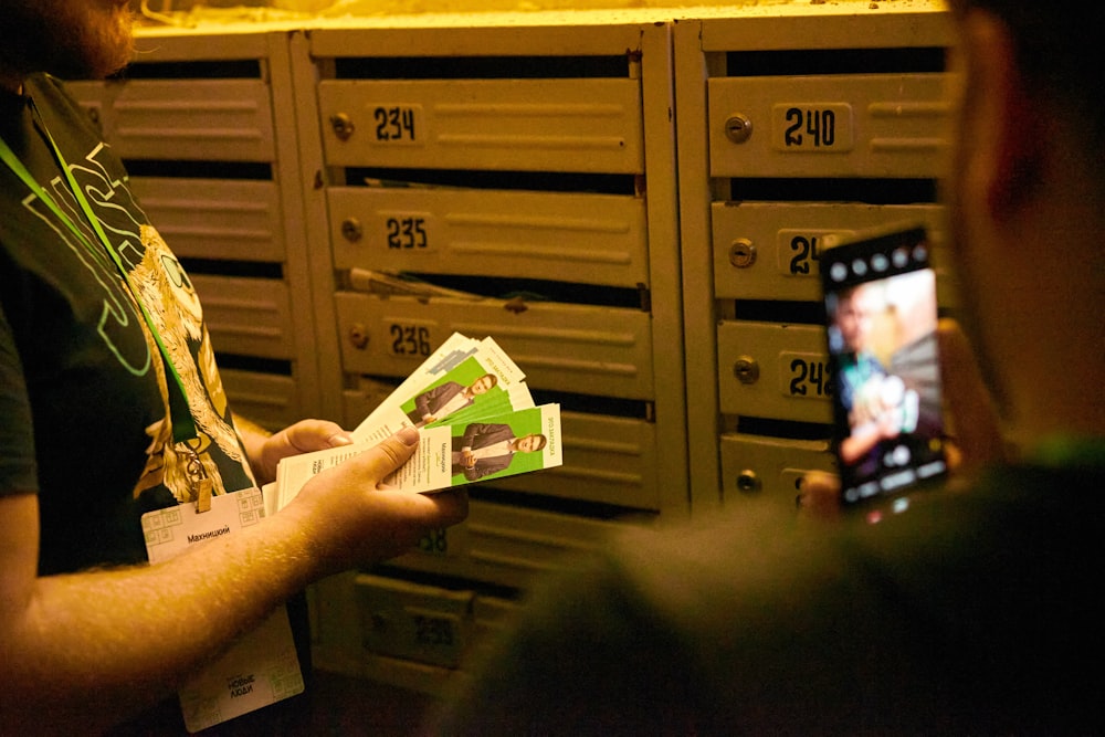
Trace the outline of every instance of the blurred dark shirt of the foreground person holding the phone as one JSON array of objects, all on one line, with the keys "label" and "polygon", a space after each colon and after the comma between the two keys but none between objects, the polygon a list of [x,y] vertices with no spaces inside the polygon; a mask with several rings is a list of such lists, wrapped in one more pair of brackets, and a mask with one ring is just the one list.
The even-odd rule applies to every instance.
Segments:
[{"label": "blurred dark shirt of the foreground person holding the phone", "polygon": [[1101,734],[1103,489],[1015,466],[878,524],[743,502],[628,533],[535,594],[436,731]]}]

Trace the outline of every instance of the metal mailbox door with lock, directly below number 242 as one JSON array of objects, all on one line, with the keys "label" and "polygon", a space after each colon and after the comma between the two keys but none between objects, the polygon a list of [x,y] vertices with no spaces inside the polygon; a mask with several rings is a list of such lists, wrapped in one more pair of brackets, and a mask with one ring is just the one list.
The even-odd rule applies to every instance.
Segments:
[{"label": "metal mailbox door with lock, directly below number 242", "polygon": [[766,498],[794,509],[802,476],[834,467],[828,441],[728,433],[720,438],[720,453],[727,506]]}]

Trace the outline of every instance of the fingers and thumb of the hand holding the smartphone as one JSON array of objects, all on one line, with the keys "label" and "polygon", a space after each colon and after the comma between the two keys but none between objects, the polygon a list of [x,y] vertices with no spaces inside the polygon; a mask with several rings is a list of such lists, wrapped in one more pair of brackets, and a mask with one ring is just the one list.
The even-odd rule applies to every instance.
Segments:
[{"label": "fingers and thumb of the hand holding the smartphone", "polygon": [[[990,394],[959,325],[941,319],[936,337],[947,419],[954,433],[946,443],[948,465],[964,478],[986,464],[1000,462],[1006,455],[1004,442]],[[840,515],[840,478],[821,471],[806,474],[799,507],[803,516],[835,519]]]}]

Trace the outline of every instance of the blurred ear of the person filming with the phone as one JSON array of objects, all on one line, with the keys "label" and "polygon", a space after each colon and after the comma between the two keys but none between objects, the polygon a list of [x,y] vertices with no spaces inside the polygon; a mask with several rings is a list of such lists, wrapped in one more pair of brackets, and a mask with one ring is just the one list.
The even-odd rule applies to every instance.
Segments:
[{"label": "blurred ear of the person filming with the phone", "polygon": [[991,218],[1006,220],[1033,196],[1045,172],[1046,112],[1033,101],[1017,63],[1008,27],[986,11],[964,21],[974,131],[982,166],[983,202]]}]

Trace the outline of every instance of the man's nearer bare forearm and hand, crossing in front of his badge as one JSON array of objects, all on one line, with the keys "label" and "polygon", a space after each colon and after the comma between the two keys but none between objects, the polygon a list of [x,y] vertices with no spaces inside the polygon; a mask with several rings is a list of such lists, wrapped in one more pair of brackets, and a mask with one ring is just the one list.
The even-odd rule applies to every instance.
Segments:
[{"label": "man's nearer bare forearm and hand, crossing in front of his badge", "polygon": [[463,519],[463,493],[376,489],[413,446],[391,438],[315,476],[280,514],[157,566],[39,577],[38,497],[0,497],[0,734],[98,733],[308,582]]}]

